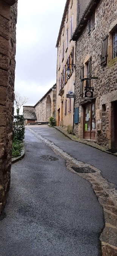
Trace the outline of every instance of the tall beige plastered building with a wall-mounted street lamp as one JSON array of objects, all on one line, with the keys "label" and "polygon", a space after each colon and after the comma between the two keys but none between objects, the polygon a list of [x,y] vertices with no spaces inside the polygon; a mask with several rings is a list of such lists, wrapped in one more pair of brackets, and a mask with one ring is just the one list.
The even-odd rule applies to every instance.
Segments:
[{"label": "tall beige plastered building with a wall-mounted street lamp", "polygon": [[[72,34],[89,0],[67,0],[57,38],[57,126],[72,132],[74,119],[75,42]],[[68,74],[70,69],[70,74]],[[68,94],[68,95],[67,95]]]}]

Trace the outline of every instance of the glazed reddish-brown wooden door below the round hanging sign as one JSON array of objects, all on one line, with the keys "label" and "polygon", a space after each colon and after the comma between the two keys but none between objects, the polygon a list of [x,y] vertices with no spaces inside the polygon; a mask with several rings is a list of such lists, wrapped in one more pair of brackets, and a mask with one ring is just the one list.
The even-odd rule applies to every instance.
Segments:
[{"label": "glazed reddish-brown wooden door below the round hanging sign", "polygon": [[84,109],[84,138],[95,140],[95,103],[90,103]]}]

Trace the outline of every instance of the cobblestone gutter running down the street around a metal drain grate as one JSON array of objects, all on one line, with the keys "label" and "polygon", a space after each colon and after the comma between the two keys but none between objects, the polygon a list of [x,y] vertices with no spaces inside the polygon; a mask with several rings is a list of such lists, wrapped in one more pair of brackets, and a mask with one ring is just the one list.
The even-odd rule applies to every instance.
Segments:
[{"label": "cobblestone gutter running down the street around a metal drain grate", "polygon": [[115,190],[115,184],[109,183],[107,179],[104,179],[100,174],[100,170],[89,164],[77,161],[74,157],[64,152],[54,143],[39,135],[34,130],[28,128],[35,137],[43,141],[48,145],[57,155],[66,160],[66,167],[72,172],[71,166],[83,167],[89,166],[94,169],[95,173],[81,174],[84,179],[88,180],[97,196],[99,203],[103,206],[103,214],[105,218],[105,228],[100,236],[102,256],[117,256],[117,190]]}]

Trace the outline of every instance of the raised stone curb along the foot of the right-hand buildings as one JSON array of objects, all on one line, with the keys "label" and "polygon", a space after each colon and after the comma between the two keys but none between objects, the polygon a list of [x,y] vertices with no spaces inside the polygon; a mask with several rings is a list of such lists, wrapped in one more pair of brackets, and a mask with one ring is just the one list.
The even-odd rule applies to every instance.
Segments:
[{"label": "raised stone curb along the foot of the right-hand buildings", "polygon": [[91,146],[92,148],[96,148],[96,149],[99,149],[103,152],[106,152],[107,154],[110,154],[110,155],[114,155],[117,157],[117,153],[111,153],[111,152],[108,152],[106,148],[94,143],[94,142],[89,142],[89,141],[86,141],[86,140],[80,140],[78,137],[76,137],[75,135],[72,135],[72,134],[69,134],[66,130],[62,129],[61,127],[59,126],[53,126],[56,130],[58,130],[59,132],[63,133],[66,137],[68,137],[69,139],[73,140],[73,141],[77,141],[77,142],[80,142],[80,143],[83,143],[83,144],[86,144],[88,146]]}]

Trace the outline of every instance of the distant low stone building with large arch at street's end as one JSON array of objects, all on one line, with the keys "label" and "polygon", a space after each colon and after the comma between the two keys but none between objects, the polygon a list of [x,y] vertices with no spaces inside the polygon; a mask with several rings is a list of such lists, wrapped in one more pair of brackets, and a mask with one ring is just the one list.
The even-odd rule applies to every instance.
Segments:
[{"label": "distant low stone building with large arch at street's end", "polygon": [[49,122],[50,116],[55,116],[56,84],[34,106],[23,106],[23,116],[26,124]]}]

